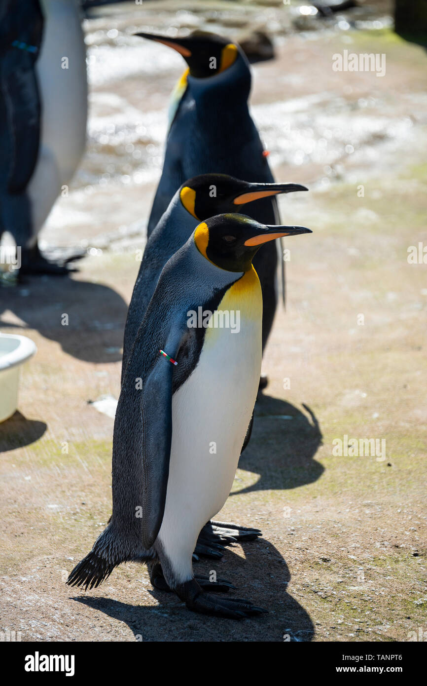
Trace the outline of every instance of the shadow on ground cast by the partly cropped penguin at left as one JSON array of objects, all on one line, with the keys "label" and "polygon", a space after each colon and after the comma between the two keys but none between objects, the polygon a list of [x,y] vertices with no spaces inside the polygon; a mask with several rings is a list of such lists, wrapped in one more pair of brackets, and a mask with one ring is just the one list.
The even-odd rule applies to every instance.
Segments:
[{"label": "shadow on ground cast by the partly cropped penguin at left", "polygon": [[127,303],[112,288],[100,283],[58,276],[27,277],[16,287],[1,289],[0,327],[19,328],[1,321],[10,310],[22,331],[36,329],[57,341],[62,350],[84,362],[117,362],[121,359]]}]

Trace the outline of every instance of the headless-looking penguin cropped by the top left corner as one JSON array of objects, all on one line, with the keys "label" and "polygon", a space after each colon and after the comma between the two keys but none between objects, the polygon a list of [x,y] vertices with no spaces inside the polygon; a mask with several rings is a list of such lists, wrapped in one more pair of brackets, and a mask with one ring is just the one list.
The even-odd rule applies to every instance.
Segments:
[{"label": "headless-looking penguin cropped by the top left corner", "polygon": [[0,239],[21,248],[20,274],[67,274],[38,233],[86,143],[86,51],[77,0],[0,3]]}]

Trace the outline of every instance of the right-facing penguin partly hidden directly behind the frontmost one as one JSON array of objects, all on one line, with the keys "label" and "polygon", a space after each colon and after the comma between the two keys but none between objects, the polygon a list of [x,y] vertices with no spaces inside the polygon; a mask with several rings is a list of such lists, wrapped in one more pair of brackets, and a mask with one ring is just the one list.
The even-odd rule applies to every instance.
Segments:
[{"label": "right-facing penguin partly hidden directly behind the frontmost one", "polygon": [[154,294],[160,272],[169,257],[186,243],[197,223],[222,213],[246,213],[263,196],[274,198],[279,193],[306,190],[305,186],[299,184],[249,183],[225,174],[202,174],[184,182],[147,239],[127,312],[122,379],[136,333]]}]

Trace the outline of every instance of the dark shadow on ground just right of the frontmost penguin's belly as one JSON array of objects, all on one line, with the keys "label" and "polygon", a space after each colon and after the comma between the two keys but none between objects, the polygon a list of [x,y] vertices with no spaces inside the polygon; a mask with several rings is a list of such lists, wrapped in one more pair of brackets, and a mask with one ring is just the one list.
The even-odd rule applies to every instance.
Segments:
[{"label": "dark shadow on ground just right of the frontmost penguin's belly", "polygon": [[315,482],[324,472],[315,454],[322,442],[317,418],[303,404],[308,417],[291,403],[259,393],[249,444],[239,467],[260,474],[252,486],[235,493],[254,490],[286,490]]}]

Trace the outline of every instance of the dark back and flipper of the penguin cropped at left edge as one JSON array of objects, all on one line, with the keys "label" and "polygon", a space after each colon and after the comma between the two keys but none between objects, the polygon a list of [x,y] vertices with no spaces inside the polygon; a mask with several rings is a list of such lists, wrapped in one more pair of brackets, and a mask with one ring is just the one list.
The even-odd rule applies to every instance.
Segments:
[{"label": "dark back and flipper of the penguin cropped at left edge", "polygon": [[0,239],[10,231],[18,246],[32,233],[27,185],[40,142],[36,60],[43,16],[38,0],[0,1]]}]

